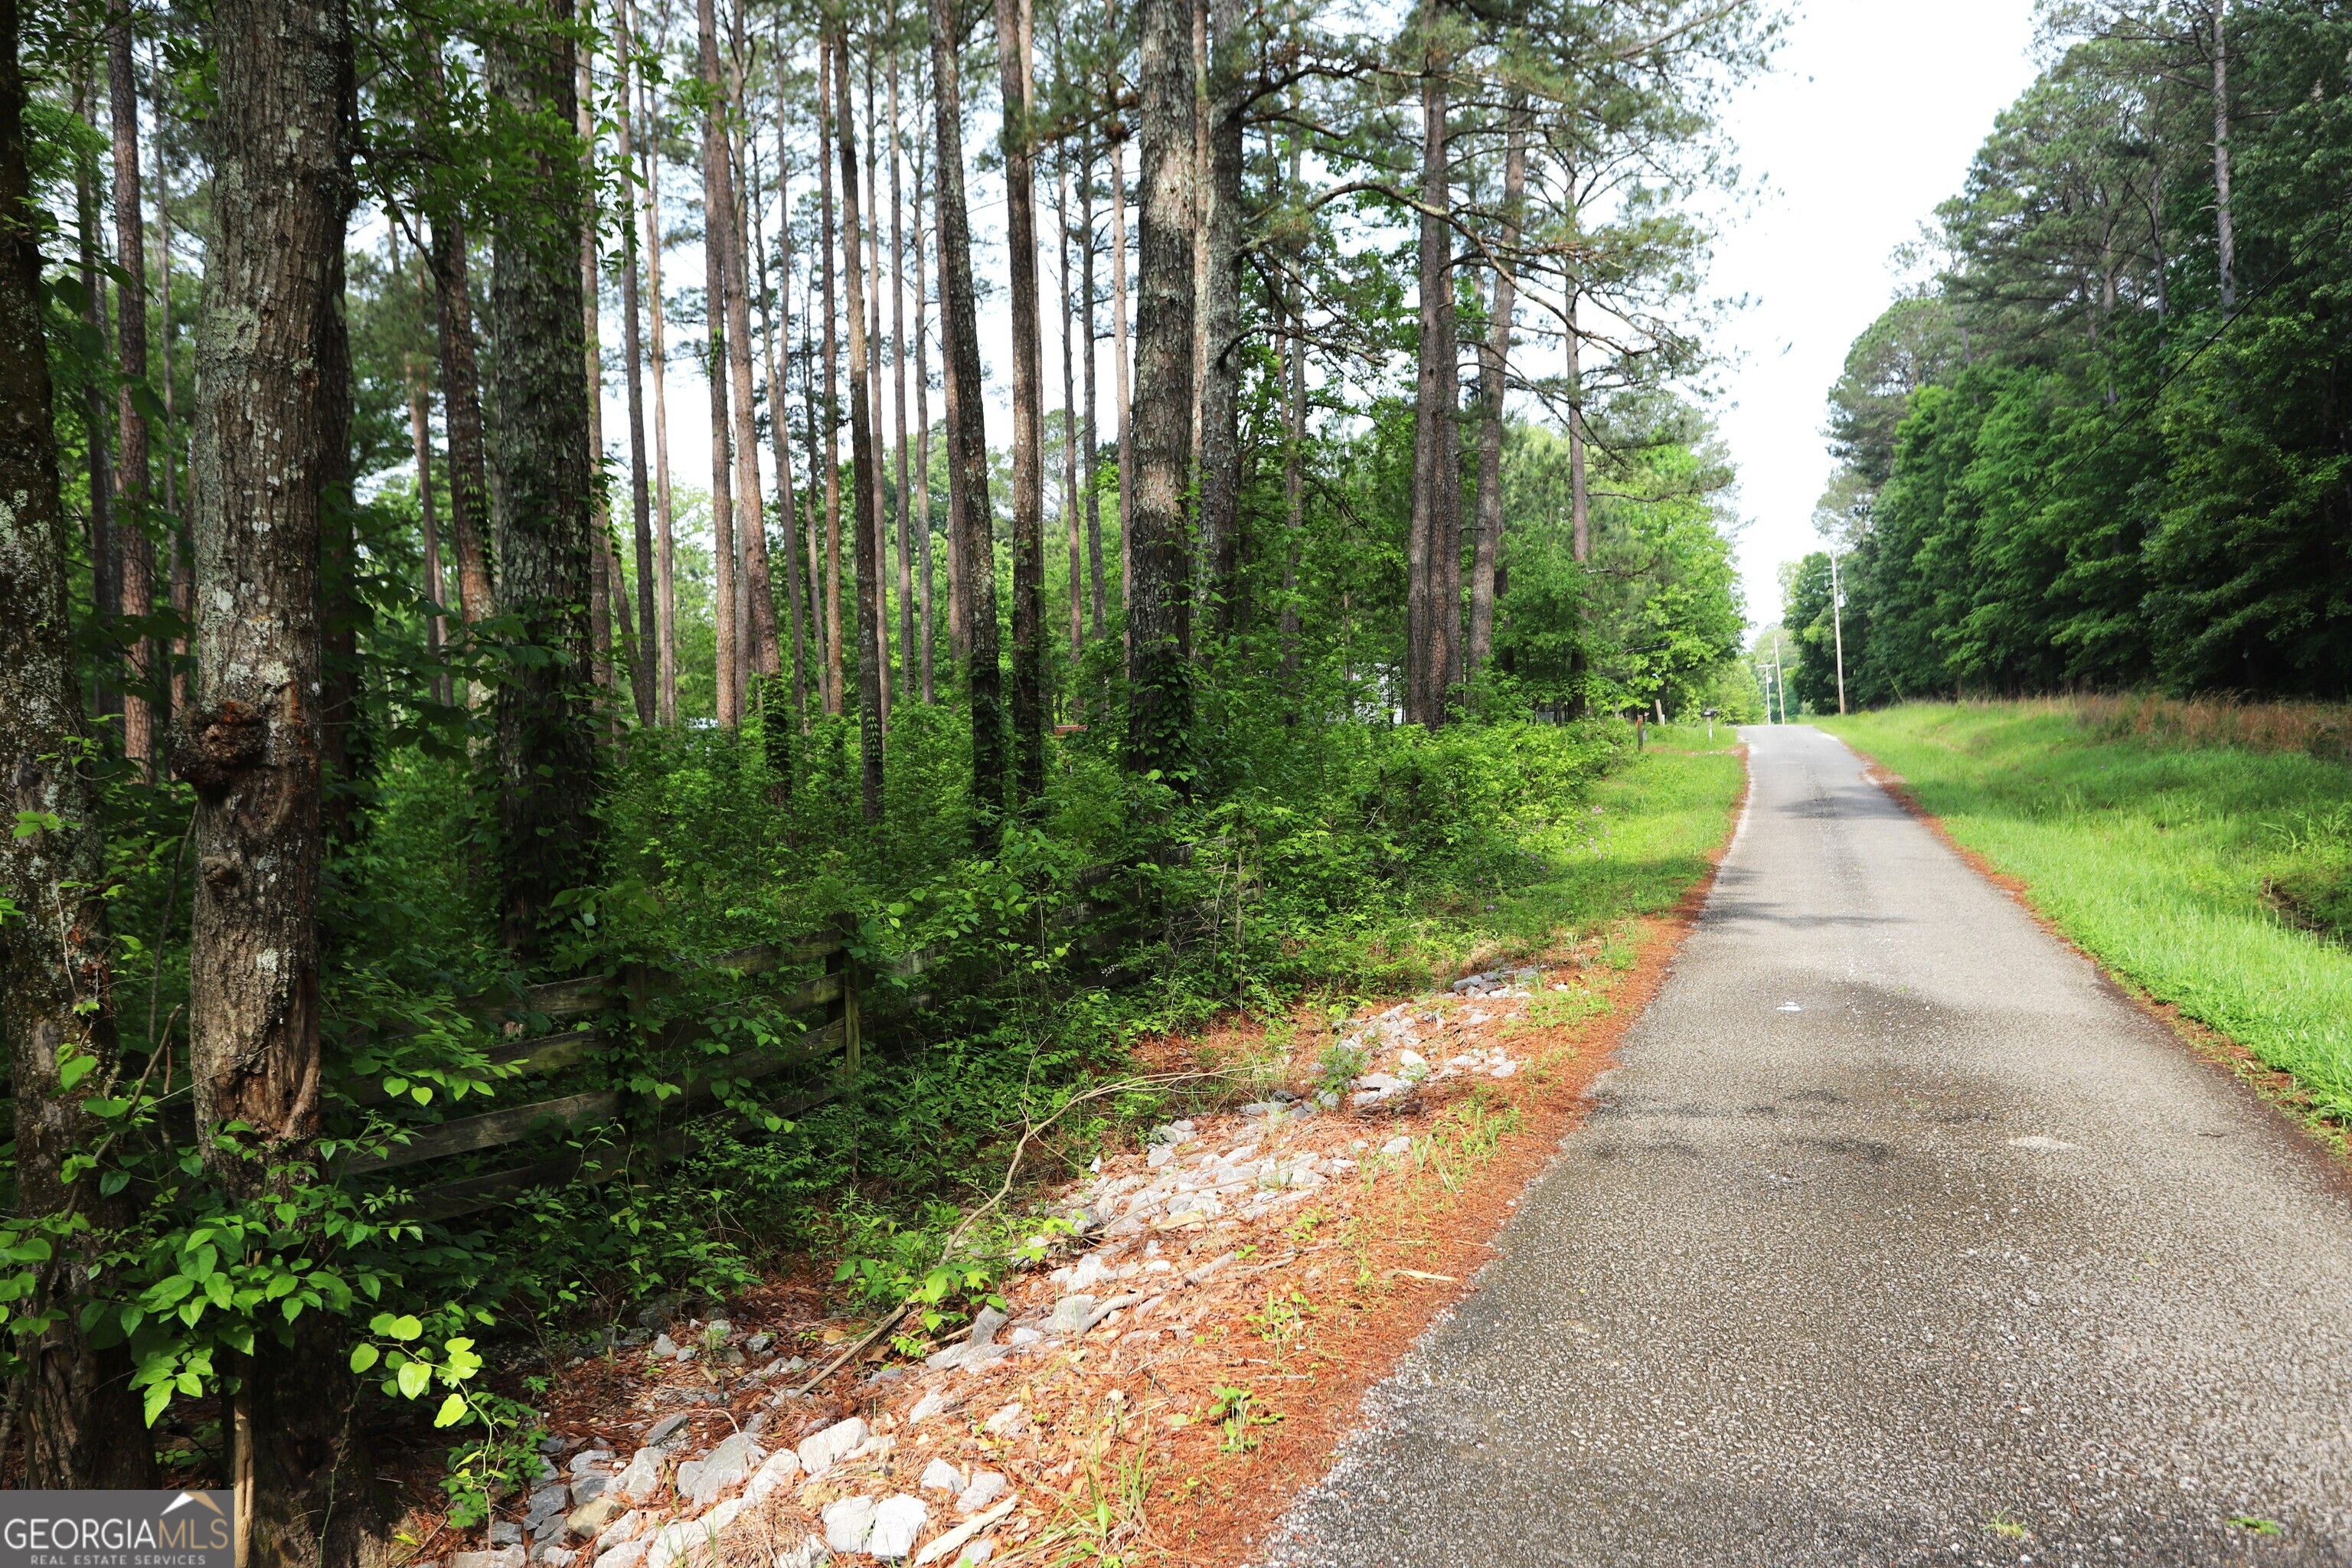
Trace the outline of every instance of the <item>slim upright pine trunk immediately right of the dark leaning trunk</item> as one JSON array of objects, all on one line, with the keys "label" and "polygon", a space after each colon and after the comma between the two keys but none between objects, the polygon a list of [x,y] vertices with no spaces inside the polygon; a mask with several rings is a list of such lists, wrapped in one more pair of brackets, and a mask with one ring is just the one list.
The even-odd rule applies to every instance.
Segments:
[{"label": "slim upright pine trunk immediately right of the dark leaning trunk", "polygon": [[1044,795],[1044,393],[1037,343],[1037,172],[1023,0],[997,0],[1004,261],[1014,336],[1014,802]]}]

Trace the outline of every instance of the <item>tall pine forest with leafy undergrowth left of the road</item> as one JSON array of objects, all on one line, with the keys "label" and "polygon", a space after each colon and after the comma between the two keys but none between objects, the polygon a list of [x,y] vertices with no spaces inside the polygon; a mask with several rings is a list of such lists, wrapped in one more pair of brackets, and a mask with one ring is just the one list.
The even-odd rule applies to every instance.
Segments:
[{"label": "tall pine forest with leafy undergrowth left of the road", "polygon": [[517,1347],[969,1305],[1037,1105],[1425,978],[1755,703],[1689,388],[1778,28],[0,0],[9,1481],[360,1561],[369,1443],[536,1465]]}]

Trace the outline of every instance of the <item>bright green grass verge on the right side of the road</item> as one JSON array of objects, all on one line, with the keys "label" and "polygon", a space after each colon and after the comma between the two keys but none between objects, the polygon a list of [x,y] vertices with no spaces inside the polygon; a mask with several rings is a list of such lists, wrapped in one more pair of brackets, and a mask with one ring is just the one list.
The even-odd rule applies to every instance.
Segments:
[{"label": "bright green grass verge on the right side of the road", "polygon": [[2352,1121],[2352,769],[2117,738],[2049,703],[1818,722],[2112,973]]}]

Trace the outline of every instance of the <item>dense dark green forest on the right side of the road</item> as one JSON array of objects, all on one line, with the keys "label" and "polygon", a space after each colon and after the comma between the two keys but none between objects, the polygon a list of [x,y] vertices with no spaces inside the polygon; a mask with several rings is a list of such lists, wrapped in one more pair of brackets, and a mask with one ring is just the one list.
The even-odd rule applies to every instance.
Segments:
[{"label": "dense dark green forest on the right side of the road", "polygon": [[1933,277],[1830,393],[1792,693],[2340,701],[2352,19],[2067,0],[2042,24],[2049,66],[1919,247]]}]

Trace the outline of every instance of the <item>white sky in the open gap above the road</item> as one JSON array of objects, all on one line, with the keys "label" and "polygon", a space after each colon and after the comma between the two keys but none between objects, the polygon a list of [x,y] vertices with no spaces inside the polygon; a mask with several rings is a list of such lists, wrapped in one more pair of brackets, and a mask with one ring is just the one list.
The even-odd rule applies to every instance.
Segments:
[{"label": "white sky in the open gap above the road", "polygon": [[1806,0],[1729,132],[1748,193],[1715,247],[1717,423],[1738,465],[1748,614],[1780,614],[1780,562],[1820,548],[1820,425],[1846,348],[1893,292],[1891,252],[1959,190],[1992,118],[2034,75],[2032,0]]}]

